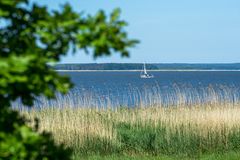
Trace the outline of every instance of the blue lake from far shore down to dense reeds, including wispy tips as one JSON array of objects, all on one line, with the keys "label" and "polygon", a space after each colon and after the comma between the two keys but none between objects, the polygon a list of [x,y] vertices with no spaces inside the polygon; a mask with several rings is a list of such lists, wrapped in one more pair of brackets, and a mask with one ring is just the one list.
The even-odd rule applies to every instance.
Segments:
[{"label": "blue lake from far shore down to dense reeds, including wispy tips", "polygon": [[[239,100],[239,71],[153,71],[152,79],[137,71],[60,72],[71,77],[75,88],[71,106],[137,106]],[[217,97],[212,97],[216,96]],[[59,98],[65,100],[65,97]]]}]

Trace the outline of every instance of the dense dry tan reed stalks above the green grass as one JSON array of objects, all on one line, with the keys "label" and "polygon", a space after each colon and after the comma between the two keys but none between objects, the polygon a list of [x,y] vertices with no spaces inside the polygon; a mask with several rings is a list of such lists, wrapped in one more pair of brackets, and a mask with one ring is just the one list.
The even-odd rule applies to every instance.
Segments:
[{"label": "dense dry tan reed stalks above the green grass", "polygon": [[[39,118],[40,130],[53,133],[58,142],[84,142],[89,137],[102,137],[116,141],[115,124],[151,124],[167,126],[167,133],[180,129],[187,134],[207,137],[208,133],[228,136],[232,129],[240,128],[240,106],[194,106],[194,107],[150,107],[126,110],[96,110],[84,108],[43,109],[23,113],[27,118]],[[224,133],[222,133],[224,131]],[[171,135],[171,134],[169,134]],[[77,142],[76,142],[77,139]],[[72,144],[73,143],[73,144]],[[117,142],[116,142],[117,143]]]}]

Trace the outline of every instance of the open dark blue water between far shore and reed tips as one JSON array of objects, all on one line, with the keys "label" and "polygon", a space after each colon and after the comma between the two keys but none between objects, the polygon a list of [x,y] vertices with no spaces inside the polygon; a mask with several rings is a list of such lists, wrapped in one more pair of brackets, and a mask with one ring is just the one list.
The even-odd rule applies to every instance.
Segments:
[{"label": "open dark blue water between far shore and reed tips", "polygon": [[69,75],[76,88],[84,88],[91,92],[114,91],[125,92],[129,86],[143,89],[146,87],[170,87],[190,85],[206,87],[209,85],[240,86],[238,71],[159,71],[150,72],[155,77],[141,79],[139,72],[61,72]]}]

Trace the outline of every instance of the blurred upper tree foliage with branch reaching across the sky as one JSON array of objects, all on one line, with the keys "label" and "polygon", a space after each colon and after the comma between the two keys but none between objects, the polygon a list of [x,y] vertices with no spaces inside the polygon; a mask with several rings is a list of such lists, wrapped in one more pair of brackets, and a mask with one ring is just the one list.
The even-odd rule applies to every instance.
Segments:
[{"label": "blurred upper tree foliage with branch reaching across the sky", "polygon": [[[75,13],[69,4],[60,11],[29,5],[27,0],[0,2],[0,102],[21,98],[26,105],[41,94],[53,98],[54,92],[66,93],[72,86],[47,65],[56,62],[68,51],[93,51],[93,56],[119,52],[128,56],[129,40],[116,9],[108,19],[103,11],[95,16]],[[24,7],[26,6],[26,7]],[[71,46],[71,47],[70,47]]]}]

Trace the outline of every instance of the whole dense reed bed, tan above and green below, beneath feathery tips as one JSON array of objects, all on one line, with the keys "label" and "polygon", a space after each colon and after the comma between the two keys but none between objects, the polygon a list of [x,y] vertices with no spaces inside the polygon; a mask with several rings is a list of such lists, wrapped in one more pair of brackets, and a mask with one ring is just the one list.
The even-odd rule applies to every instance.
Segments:
[{"label": "whole dense reed bed, tan above and green below, beneath feathery tips", "polygon": [[51,131],[59,143],[73,147],[76,159],[90,155],[200,159],[240,151],[238,104],[115,110],[48,108],[23,114],[39,118],[40,128]]}]

